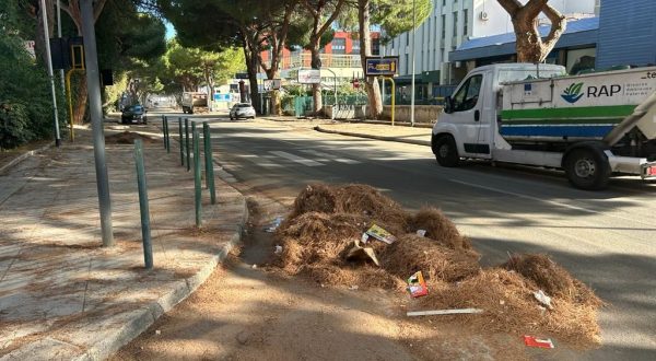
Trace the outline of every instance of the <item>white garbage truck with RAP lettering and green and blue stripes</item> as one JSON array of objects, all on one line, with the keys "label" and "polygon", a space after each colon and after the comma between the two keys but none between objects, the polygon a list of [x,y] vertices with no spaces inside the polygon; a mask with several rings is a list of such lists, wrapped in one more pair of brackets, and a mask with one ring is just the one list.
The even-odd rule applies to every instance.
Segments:
[{"label": "white garbage truck with RAP lettering and green and blue stripes", "polygon": [[656,178],[656,67],[566,75],[554,65],[476,68],[433,127],[442,166],[465,159],[563,168],[582,189]]}]

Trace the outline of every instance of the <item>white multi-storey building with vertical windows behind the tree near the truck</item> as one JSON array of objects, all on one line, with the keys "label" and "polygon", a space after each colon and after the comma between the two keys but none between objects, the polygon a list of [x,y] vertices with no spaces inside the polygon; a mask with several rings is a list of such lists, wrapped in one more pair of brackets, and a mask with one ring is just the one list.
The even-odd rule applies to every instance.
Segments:
[{"label": "white multi-storey building with vertical windows behind the tree near the truck", "polygon": [[[549,3],[570,16],[586,18],[598,11],[598,1],[551,0]],[[415,32],[417,91],[431,96],[434,85],[453,84],[467,71],[461,63],[449,61],[450,51],[472,38],[511,33],[513,24],[496,0],[433,0],[433,11]],[[385,55],[399,56],[401,85],[408,83],[412,73],[411,42],[412,33],[408,32],[382,46]]]}]

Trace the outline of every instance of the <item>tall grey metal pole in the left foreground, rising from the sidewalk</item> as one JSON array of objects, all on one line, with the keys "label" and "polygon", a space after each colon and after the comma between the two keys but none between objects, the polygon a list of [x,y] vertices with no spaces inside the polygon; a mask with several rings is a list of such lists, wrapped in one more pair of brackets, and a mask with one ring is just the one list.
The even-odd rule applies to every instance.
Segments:
[{"label": "tall grey metal pole in the left foreground, rising from the sidewalk", "polygon": [[95,156],[103,246],[110,247],[114,246],[114,232],[112,231],[112,199],[109,198],[109,179],[107,178],[107,163],[105,161],[103,103],[101,100],[101,74],[98,71],[98,55],[95,40],[93,0],[80,1],[80,11],[82,13],[86,89],[89,91],[89,110],[91,114],[91,127],[93,132],[93,153]]}]

